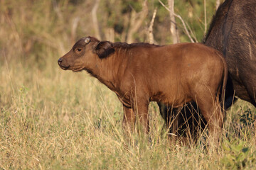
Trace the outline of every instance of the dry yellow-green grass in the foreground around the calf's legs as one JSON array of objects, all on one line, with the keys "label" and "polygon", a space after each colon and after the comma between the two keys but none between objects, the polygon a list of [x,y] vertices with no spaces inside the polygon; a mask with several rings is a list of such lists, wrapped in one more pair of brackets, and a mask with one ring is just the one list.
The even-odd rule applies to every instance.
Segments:
[{"label": "dry yellow-green grass in the foreground around the calf's legs", "polygon": [[[24,62],[0,66],[1,169],[255,169],[255,108],[230,108],[220,147],[170,145],[150,106],[150,137],[123,137],[122,106],[86,72]],[[149,140],[150,138],[150,140]],[[149,142],[150,141],[150,142]]]}]

